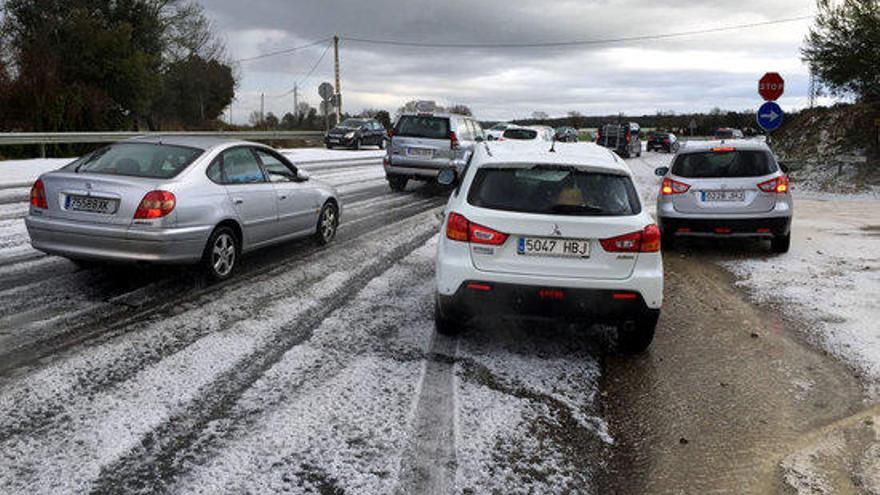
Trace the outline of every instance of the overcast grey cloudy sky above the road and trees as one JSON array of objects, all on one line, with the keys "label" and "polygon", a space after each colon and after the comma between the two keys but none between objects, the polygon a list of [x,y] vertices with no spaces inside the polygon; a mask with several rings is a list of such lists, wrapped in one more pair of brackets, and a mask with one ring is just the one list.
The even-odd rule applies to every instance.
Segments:
[{"label": "overcast grey cloudy sky above the road and trees", "polygon": [[[784,109],[806,103],[799,49],[810,21],[680,38],[565,48],[395,47],[345,37],[430,43],[531,43],[665,34],[809,15],[812,0],[205,0],[231,58],[251,57],[339,34],[344,109],[395,110],[411,99],[464,103],[485,120],[534,111],[585,115],[745,110],[760,103],[757,79],[786,79]],[[325,46],[240,64],[233,118],[292,110],[279,97]],[[332,81],[330,50],[300,89],[319,102]]]}]

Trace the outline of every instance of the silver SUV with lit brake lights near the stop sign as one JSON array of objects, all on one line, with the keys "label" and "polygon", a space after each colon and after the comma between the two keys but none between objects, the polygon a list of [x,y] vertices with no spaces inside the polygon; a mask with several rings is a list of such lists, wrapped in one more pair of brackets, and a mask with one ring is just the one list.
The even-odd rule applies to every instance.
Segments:
[{"label": "silver SUV with lit brake lights near the stop sign", "polygon": [[689,142],[663,177],[657,222],[666,248],[676,237],[757,237],[774,252],[791,244],[788,177],[770,148],[752,140]]}]

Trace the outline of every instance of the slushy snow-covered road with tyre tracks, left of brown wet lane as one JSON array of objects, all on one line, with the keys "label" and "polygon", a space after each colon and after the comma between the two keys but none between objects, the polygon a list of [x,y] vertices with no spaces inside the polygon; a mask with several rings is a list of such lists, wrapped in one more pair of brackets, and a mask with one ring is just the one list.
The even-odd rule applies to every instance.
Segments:
[{"label": "slushy snow-covered road with tyre tracks, left of brown wet lane", "polygon": [[78,269],[0,205],[0,492],[592,491],[595,344],[436,336],[442,192],[392,193],[375,160],[312,169],[343,195],[337,240],[214,286]]}]

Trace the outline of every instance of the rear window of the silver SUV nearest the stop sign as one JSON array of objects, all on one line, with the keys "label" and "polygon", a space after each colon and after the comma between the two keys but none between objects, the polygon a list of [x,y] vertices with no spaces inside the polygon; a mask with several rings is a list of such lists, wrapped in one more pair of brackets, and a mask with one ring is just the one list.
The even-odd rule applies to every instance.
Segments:
[{"label": "rear window of the silver SUV nearest the stop sign", "polygon": [[679,155],[672,173],[693,179],[712,177],[760,177],[776,172],[770,154],[757,150],[699,152]]}]

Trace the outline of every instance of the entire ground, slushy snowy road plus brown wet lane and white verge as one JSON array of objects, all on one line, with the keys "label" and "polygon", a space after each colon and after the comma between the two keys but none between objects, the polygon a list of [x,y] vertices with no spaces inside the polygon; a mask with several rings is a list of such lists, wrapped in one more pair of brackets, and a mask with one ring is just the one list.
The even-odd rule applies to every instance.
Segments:
[{"label": "entire ground, slushy snowy road plus brown wet lane and white verge", "polygon": [[[437,335],[443,191],[392,193],[375,151],[287,153],[339,188],[339,236],[254,253],[217,285],[43,255],[23,225],[27,188],[0,189],[0,493],[767,492],[847,479],[816,456],[871,479],[876,203],[796,198],[784,256],[682,243],[666,255],[657,340],[626,358],[604,352],[600,327],[502,320]],[[649,211],[669,159],[628,160]],[[829,441],[829,425],[859,443]]]}]

